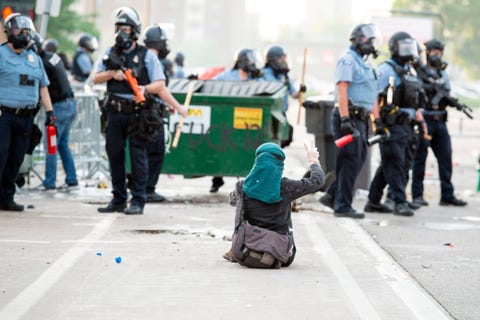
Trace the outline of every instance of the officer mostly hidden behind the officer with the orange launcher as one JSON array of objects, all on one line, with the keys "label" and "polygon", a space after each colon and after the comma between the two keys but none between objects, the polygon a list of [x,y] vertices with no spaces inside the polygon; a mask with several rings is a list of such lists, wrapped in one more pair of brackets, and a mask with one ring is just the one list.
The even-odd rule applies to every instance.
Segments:
[{"label": "officer mostly hidden behind the officer with the orange launcher", "polygon": [[[162,62],[162,67],[165,74],[165,87],[163,91],[159,93],[162,95],[165,101],[169,101],[168,108],[171,112],[177,110],[182,116],[186,117],[187,110],[180,105],[175,98],[173,98],[168,90],[165,88],[168,86],[170,74],[167,73],[164,61],[167,55],[170,53],[168,47],[167,36],[165,31],[158,25],[153,25],[145,29],[143,41],[145,46],[149,48]],[[163,99],[158,99],[157,104],[159,111],[165,108],[166,104]],[[165,197],[155,192],[155,186],[158,183],[158,178],[162,172],[163,160],[165,158],[165,132],[163,127],[158,130],[157,136],[153,141],[149,141],[147,144],[147,156],[148,156],[148,180],[147,180],[147,202],[162,202],[165,201]]]}]

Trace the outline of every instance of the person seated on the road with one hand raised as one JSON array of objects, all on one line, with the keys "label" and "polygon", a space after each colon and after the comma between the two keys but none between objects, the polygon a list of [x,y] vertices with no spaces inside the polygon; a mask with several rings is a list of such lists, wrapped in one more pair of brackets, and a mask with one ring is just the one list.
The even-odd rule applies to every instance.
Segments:
[{"label": "person seated on the road with one hand raised", "polygon": [[311,175],[301,180],[282,178],[285,154],[271,142],[260,145],[250,173],[230,194],[236,205],[232,248],[224,258],[251,268],[288,267],[295,258],[291,203],[323,184],[324,173],[313,145],[307,150]]}]

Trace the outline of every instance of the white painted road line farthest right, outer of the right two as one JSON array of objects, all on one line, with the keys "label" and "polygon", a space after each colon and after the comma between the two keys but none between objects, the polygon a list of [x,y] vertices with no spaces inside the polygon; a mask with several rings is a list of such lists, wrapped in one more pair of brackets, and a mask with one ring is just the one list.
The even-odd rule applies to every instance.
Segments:
[{"label": "white painted road line farthest right, outer of the right two", "polygon": [[451,320],[445,309],[376,243],[356,222],[342,219],[339,225],[376,259],[375,268],[418,320]]}]

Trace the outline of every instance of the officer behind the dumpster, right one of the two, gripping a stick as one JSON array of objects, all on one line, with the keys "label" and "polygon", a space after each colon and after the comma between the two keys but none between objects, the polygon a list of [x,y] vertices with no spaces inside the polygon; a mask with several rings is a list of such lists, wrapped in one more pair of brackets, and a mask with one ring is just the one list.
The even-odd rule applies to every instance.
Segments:
[{"label": "officer behind the dumpster, right one of the two, gripping a stick", "polygon": [[290,67],[288,66],[287,52],[280,46],[270,46],[265,53],[265,67],[262,69],[261,80],[282,82],[287,86],[288,93],[283,99],[282,110],[287,112],[288,109],[288,95],[294,99],[298,99],[300,92],[307,91],[307,87],[300,85],[299,90],[295,89],[292,80],[288,76]]}]

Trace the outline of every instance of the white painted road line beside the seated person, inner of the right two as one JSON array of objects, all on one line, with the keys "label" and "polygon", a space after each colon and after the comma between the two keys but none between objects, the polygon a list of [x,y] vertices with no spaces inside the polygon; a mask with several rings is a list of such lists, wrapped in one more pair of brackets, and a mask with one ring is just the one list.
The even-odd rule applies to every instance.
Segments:
[{"label": "white painted road line beside the seated person, inner of the right two", "polygon": [[[360,289],[360,286],[348,271],[347,267],[343,264],[330,242],[328,242],[327,238],[323,235],[322,230],[318,227],[315,220],[307,215],[301,215],[299,218],[307,229],[307,234],[314,244],[313,250],[322,256],[323,261],[333,273],[345,295],[350,300],[350,303],[354,308],[353,311],[358,315],[358,319],[380,320],[380,315],[370,301],[368,301],[364,292]],[[321,245],[318,245],[317,243]]]}]

